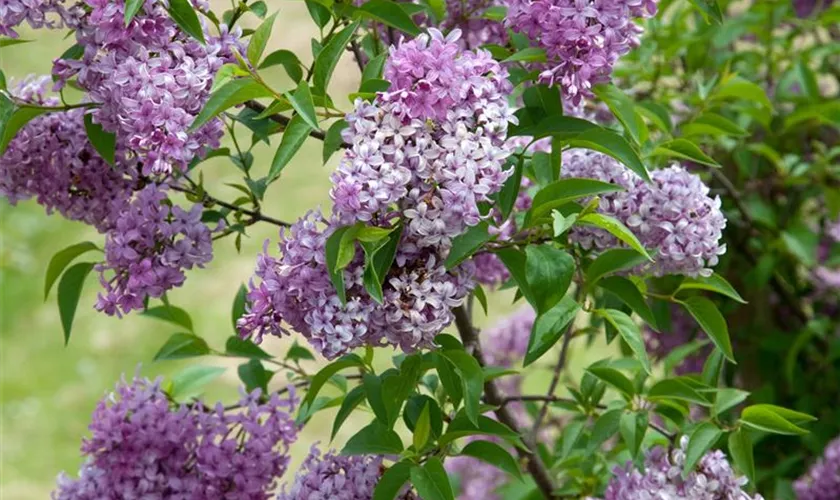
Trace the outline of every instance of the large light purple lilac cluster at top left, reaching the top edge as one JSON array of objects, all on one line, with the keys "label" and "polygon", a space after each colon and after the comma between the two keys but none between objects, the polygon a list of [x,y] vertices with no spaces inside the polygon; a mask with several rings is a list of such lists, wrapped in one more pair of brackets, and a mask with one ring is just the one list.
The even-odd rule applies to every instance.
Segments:
[{"label": "large light purple lilac cluster at top left, reaching the top edge", "polygon": [[178,28],[162,0],[145,0],[128,25],[123,1],[86,0],[86,10],[75,32],[84,53],[79,60],[56,60],[57,85],[76,77],[87,99],[100,105],[94,121],[137,155],[145,175],[185,169],[193,157],[218,147],[219,119],[189,128],[216,71],[242,50],[239,31],[222,27],[213,36],[205,29],[202,44]]}]

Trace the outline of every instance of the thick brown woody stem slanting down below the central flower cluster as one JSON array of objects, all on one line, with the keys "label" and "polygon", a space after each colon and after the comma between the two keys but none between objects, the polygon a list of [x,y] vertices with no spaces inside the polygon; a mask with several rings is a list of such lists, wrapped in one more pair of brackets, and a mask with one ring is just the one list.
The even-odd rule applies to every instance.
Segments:
[{"label": "thick brown woody stem slanting down below the central flower cluster", "polygon": [[[483,367],[484,356],[481,353],[481,345],[478,342],[478,333],[475,331],[475,328],[473,328],[472,321],[467,315],[467,311],[463,308],[463,306],[461,306],[456,307],[452,310],[452,312],[455,314],[455,326],[458,328],[461,340],[464,341],[464,346],[468,351],[472,351],[473,356],[475,356],[475,359],[478,360],[478,364]],[[502,404],[504,398],[499,393],[499,389],[492,380],[484,384],[484,397],[488,404],[499,407],[494,411],[496,417],[499,419],[499,422],[521,434],[513,415],[511,415],[507,408]],[[545,464],[543,464],[539,454],[532,451],[535,447],[533,444],[529,443],[528,448],[529,449],[527,451],[519,448],[517,448],[516,451],[519,453],[519,456],[525,460],[528,472],[534,477],[534,481],[537,483],[540,491],[542,491],[543,496],[545,496],[545,498],[560,498],[554,494],[555,486],[554,480],[551,478],[551,474],[545,467]]]}]

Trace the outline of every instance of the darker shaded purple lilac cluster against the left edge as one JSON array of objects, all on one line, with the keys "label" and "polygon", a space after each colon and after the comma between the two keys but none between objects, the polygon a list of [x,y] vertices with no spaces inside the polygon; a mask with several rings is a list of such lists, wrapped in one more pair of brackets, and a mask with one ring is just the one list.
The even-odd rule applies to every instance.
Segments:
[{"label": "darker shaded purple lilac cluster against the left edge", "polygon": [[[14,87],[18,101],[57,106],[46,97],[49,77],[28,78]],[[0,196],[11,204],[35,198],[57,211],[107,231],[131,198],[134,179],[125,163],[111,167],[88,142],[83,109],[39,116],[26,124],[0,156]]]}]

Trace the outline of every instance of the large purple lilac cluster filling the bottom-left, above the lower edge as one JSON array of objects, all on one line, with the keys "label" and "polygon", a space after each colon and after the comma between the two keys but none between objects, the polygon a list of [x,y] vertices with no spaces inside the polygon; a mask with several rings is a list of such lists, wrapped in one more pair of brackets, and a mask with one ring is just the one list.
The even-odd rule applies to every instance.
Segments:
[{"label": "large purple lilac cluster filling the bottom-left, above the lower edge", "polygon": [[79,478],[60,475],[52,498],[268,499],[297,439],[294,406],[255,391],[236,411],[173,408],[160,380],[123,381],[94,411]]}]

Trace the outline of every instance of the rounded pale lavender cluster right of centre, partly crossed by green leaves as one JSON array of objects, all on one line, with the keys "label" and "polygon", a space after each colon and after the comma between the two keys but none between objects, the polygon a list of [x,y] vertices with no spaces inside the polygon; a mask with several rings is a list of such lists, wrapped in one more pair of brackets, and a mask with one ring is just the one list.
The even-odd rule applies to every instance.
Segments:
[{"label": "rounded pale lavender cluster right of centre, partly crossed by green leaves", "polygon": [[[582,177],[617,184],[625,189],[602,195],[598,211],[629,227],[655,262],[640,271],[655,276],[709,276],[726,252],[720,243],[726,219],[719,197],[711,198],[700,178],[674,165],[651,172],[651,183],[613,158],[589,150],[563,152],[563,177]],[[584,248],[618,246],[604,230],[577,226],[570,237]]]}]

